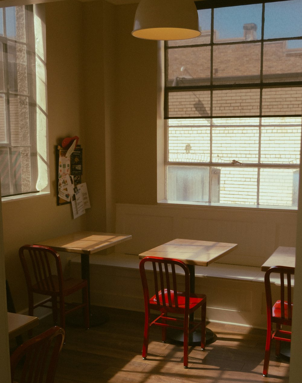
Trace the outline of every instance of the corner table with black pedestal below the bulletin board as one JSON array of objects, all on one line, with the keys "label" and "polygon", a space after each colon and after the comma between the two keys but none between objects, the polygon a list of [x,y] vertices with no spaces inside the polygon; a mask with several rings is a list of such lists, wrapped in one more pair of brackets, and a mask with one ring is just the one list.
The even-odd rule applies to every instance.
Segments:
[{"label": "corner table with black pedestal below the bulletin board", "polygon": [[[36,243],[36,245],[49,246],[56,251],[81,254],[81,273],[82,279],[88,282],[88,300],[90,310],[90,326],[98,325],[104,322],[104,318],[96,318],[96,315],[91,314],[90,307],[90,267],[89,257],[91,254],[99,252],[109,247],[118,245],[121,242],[129,241],[131,235],[113,234],[95,231],[78,231],[72,234],[47,239]],[[71,317],[70,317],[71,318]],[[78,321],[76,320],[76,323]]]}]

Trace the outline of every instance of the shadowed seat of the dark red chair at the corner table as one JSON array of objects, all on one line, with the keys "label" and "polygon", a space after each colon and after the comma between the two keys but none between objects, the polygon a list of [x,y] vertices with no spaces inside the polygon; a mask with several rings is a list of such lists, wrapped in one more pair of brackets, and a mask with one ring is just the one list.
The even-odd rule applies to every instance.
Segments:
[{"label": "shadowed seat of the dark red chair at the corner table", "polygon": [[[52,280],[52,283],[50,282]],[[69,295],[75,290],[79,290],[81,286],[84,286],[87,281],[83,279],[67,278],[63,281],[64,295]],[[53,288],[50,288],[53,286]],[[51,277],[45,278],[42,280],[39,285],[36,283],[33,285],[33,291],[38,294],[52,295],[59,294],[59,277],[57,275],[52,275]]]}]

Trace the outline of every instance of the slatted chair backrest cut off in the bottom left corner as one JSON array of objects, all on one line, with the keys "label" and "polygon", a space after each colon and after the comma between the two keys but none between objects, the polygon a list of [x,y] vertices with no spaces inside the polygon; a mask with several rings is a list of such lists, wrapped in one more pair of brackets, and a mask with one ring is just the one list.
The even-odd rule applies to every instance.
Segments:
[{"label": "slatted chair backrest cut off in the bottom left corner", "polygon": [[10,357],[11,381],[53,383],[64,337],[64,329],[54,326],[19,346]]}]

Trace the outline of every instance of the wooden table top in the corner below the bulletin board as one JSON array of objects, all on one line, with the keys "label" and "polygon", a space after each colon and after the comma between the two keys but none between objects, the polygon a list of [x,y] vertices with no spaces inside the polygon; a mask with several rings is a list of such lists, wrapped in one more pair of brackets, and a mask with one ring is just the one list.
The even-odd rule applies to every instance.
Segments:
[{"label": "wooden table top in the corner below the bulletin board", "polygon": [[78,254],[93,254],[108,247],[131,239],[131,235],[101,233],[95,231],[78,231],[72,234],[47,239],[35,245],[49,246],[56,251]]}]

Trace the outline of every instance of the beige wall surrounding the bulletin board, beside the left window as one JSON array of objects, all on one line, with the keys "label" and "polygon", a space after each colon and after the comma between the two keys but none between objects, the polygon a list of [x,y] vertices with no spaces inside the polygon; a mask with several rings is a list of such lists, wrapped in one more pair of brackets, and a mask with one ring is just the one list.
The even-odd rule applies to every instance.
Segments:
[{"label": "beige wall surrounding the bulletin board, beside the left window", "polygon": [[57,206],[55,157],[56,145],[64,137],[77,135],[84,147],[79,81],[81,7],[72,1],[46,5],[50,195],[2,204],[5,272],[17,311],[27,306],[18,248],[85,226],[85,217],[72,218],[70,205]]}]

